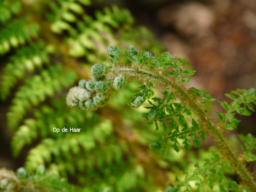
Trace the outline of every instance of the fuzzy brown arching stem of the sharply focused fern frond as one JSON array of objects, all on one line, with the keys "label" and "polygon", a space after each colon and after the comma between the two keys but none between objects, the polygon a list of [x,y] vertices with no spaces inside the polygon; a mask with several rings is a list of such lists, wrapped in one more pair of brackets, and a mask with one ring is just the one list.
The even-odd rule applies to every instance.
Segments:
[{"label": "fuzzy brown arching stem of the sharply focused fern frond", "polygon": [[[241,161],[237,158],[236,154],[231,150],[227,141],[225,141],[224,136],[221,131],[216,128],[216,125],[210,120],[208,115],[198,106],[189,95],[183,90],[179,85],[173,83],[170,79],[163,77],[161,75],[157,75],[152,72],[148,72],[145,70],[136,70],[130,68],[120,68],[115,69],[113,72],[115,74],[122,74],[124,76],[130,77],[139,77],[143,80],[149,80],[155,83],[160,83],[167,88],[170,88],[171,91],[176,93],[177,97],[181,99],[184,103],[186,103],[192,111],[198,115],[201,122],[203,124],[202,127],[205,127],[209,135],[211,135],[217,142],[220,151],[225,155],[226,159],[230,162],[232,168],[237,172],[237,174],[241,177],[241,179],[246,182],[246,185],[250,188],[251,191],[256,191],[256,184],[254,182],[253,177],[247,168],[243,165]],[[113,75],[115,75],[113,74]],[[205,124],[205,125],[204,125]]]}]

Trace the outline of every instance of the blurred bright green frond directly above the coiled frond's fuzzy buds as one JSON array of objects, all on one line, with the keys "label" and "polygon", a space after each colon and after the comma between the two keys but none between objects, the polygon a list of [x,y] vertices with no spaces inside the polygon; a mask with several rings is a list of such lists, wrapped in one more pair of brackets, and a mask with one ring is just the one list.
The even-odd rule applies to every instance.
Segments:
[{"label": "blurred bright green frond directly above the coiled frond's fuzzy buds", "polygon": [[112,10],[105,8],[104,13],[97,12],[95,20],[89,15],[84,15],[83,21],[78,23],[77,32],[67,41],[69,54],[75,57],[88,55],[89,62],[95,62],[97,58],[106,59],[104,48],[106,49],[109,42],[116,39],[114,29],[129,28],[132,23],[130,12],[116,6],[113,6]]}]

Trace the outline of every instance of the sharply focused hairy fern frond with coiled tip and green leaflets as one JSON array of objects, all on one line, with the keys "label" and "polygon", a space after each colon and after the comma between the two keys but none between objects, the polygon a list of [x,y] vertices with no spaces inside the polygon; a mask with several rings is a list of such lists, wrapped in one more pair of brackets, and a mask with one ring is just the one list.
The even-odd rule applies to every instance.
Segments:
[{"label": "sharply focused hairy fern frond with coiled tip and green leaflets", "polygon": [[[238,188],[236,182],[231,180],[229,189],[222,185],[224,173],[221,167],[227,166],[227,164],[243,180],[244,189],[256,190],[254,179],[244,165],[246,159],[238,159],[237,153],[232,150],[224,136],[225,129],[234,129],[239,122],[234,118],[235,113],[250,115],[249,110],[254,111],[252,106],[252,103],[256,104],[254,89],[248,91],[238,89],[227,94],[233,102],[231,104],[221,102],[227,113],[217,113],[219,121],[215,122],[204,111],[204,104],[215,99],[202,89],[184,87],[184,83],[191,79],[187,76],[195,73],[189,68],[191,66],[187,60],[174,58],[168,53],[152,55],[145,51],[137,52],[133,46],[130,46],[128,52],[125,52],[125,56],[131,62],[129,65],[122,65],[119,63],[120,50],[117,47],[110,46],[108,53],[111,57],[110,65],[106,66],[101,63],[93,65],[91,68],[92,79],[82,79],[79,81],[78,87],[70,89],[67,94],[67,104],[70,107],[95,110],[109,101],[113,89],[125,88],[126,83],[134,79],[141,81],[141,91],[134,95],[130,105],[138,108],[148,101],[149,105],[145,108],[150,110],[143,113],[142,116],[147,119],[147,124],[154,123],[156,125],[156,131],[160,126],[164,129],[163,136],[151,143],[152,149],[165,153],[169,141],[172,141],[173,149],[179,152],[178,139],[182,139],[184,148],[188,150],[191,146],[190,137],[193,138],[195,147],[200,147],[202,144],[200,137],[206,141],[207,134],[215,139],[221,152],[221,155],[214,152],[212,161],[209,160],[208,164],[206,163],[202,168],[195,164],[196,169],[192,175],[187,175],[184,181],[176,179],[178,182],[176,187],[171,184],[167,191],[180,191],[182,187],[189,190],[191,188],[190,180],[195,180],[198,190],[202,190],[200,174],[207,177],[207,183],[211,189],[215,180],[214,176],[217,178],[216,182],[219,183],[221,191],[241,189]],[[152,88],[155,86],[163,89],[162,97],[153,97]],[[211,172],[211,169],[215,171]]]}]

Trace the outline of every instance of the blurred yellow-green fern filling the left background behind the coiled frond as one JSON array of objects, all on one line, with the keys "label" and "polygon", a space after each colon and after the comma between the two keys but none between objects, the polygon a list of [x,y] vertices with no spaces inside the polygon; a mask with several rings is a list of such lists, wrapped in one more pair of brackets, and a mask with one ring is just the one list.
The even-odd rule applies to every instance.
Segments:
[{"label": "blurred yellow-green fern filling the left background behind the coiled frond", "polygon": [[[116,133],[117,126],[122,125],[110,116],[105,119],[95,112],[69,109],[61,89],[71,87],[81,74],[88,77],[86,65],[106,60],[105,48],[110,44],[126,47],[132,43],[146,49],[161,49],[161,46],[146,28],[133,27],[134,19],[128,10],[117,6],[104,8],[93,19],[85,13],[90,4],[90,1],[45,2],[52,31],[47,33],[57,34],[49,38],[45,29],[39,30],[40,22],[30,22],[33,12],[24,15],[20,2],[3,3],[3,10],[8,9],[6,6],[16,6],[13,17],[2,19],[5,23],[0,32],[1,54],[5,55],[6,63],[1,77],[1,98],[14,96],[7,114],[8,127],[14,134],[13,156],[19,156],[26,145],[33,144],[35,147],[28,152],[24,164],[29,173],[45,165],[47,174],[73,178],[87,190],[144,190],[147,185],[154,186],[155,175],[145,176],[144,167],[131,152],[137,150],[129,149],[131,141]],[[61,45],[52,45],[51,38],[60,39]],[[75,60],[67,54],[81,59]],[[115,111],[111,107],[109,110]],[[121,113],[124,112],[128,111]],[[54,127],[81,128],[81,132],[56,134],[52,131]],[[135,127],[139,128],[139,124]],[[150,135],[146,131],[143,134]],[[153,134],[151,137],[155,138]],[[138,142],[137,147],[148,145],[145,141]],[[33,179],[29,180],[33,183]]]}]

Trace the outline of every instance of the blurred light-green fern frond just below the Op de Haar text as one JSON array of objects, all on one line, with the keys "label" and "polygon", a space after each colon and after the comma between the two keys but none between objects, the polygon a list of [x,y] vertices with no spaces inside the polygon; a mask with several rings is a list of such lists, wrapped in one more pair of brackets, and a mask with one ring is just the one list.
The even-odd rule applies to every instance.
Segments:
[{"label": "blurred light-green fern frond just below the Op de Haar text", "polygon": [[[90,151],[95,147],[96,141],[103,141],[102,139],[110,135],[112,131],[109,121],[102,122],[94,128],[87,127],[87,130],[84,131],[83,128],[81,129],[82,132],[79,132],[79,134],[66,133],[66,136],[57,140],[51,138],[44,139],[37,147],[30,150],[25,163],[27,169],[30,171],[35,170],[40,164],[50,163],[52,155],[56,158],[57,163],[68,163],[69,166],[73,167],[75,165],[70,162],[73,158],[72,156],[81,156],[82,150],[84,152]],[[61,156],[64,160],[61,160],[60,154],[62,154]],[[75,168],[71,169],[69,166],[66,167],[67,171],[71,171],[74,174]]]}]

